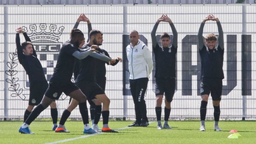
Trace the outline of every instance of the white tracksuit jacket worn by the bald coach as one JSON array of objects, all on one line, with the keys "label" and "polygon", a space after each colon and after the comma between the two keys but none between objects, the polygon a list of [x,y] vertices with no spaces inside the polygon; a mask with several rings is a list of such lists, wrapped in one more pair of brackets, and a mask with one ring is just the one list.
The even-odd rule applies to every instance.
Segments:
[{"label": "white tracksuit jacket worn by the bald coach", "polygon": [[129,79],[149,77],[153,70],[153,59],[146,44],[139,39],[134,47],[131,44],[127,45],[126,56],[129,61]]}]

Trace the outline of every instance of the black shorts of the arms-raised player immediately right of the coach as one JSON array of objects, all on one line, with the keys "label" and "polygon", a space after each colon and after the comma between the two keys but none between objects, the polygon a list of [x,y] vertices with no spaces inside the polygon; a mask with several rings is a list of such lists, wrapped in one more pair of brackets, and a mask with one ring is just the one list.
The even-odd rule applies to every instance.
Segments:
[{"label": "black shorts of the arms-raised player immediately right of the coach", "polygon": [[175,86],[175,78],[156,78],[155,94],[165,95],[165,99],[168,102],[172,102]]}]

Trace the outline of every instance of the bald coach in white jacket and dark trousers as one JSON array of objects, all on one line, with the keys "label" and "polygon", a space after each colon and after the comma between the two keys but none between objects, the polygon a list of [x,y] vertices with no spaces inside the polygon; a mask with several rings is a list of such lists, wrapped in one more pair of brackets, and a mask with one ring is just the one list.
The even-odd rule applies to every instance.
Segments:
[{"label": "bald coach in white jacket and dark trousers", "polygon": [[136,116],[136,121],[129,126],[148,126],[144,97],[148,77],[153,70],[153,60],[147,45],[140,41],[138,31],[132,30],[129,38],[131,43],[126,47],[126,55],[129,61],[130,89]]}]

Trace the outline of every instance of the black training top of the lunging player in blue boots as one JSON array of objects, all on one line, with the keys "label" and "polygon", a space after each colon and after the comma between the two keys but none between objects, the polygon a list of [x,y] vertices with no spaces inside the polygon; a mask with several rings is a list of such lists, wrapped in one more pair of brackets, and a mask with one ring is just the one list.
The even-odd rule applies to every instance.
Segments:
[{"label": "black training top of the lunging player in blue boots", "polygon": [[69,82],[74,71],[74,66],[77,58],[72,54],[78,51],[77,47],[70,44],[69,41],[63,43],[59,57],[57,60],[57,65],[54,69],[54,73],[50,79],[50,82]]}]

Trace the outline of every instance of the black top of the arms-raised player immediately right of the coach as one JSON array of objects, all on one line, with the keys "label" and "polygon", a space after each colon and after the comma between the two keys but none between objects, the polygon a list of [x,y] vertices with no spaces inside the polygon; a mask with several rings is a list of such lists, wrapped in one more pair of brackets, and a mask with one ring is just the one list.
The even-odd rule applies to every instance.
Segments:
[{"label": "black top of the arms-raised player immediately right of the coach", "polygon": [[169,23],[173,33],[172,46],[161,47],[157,44],[156,29],[159,25],[155,23],[153,30],[151,31],[151,38],[153,44],[153,51],[155,53],[156,61],[156,73],[155,77],[161,78],[175,78],[176,77],[176,53],[178,47],[178,33],[173,23]]}]

